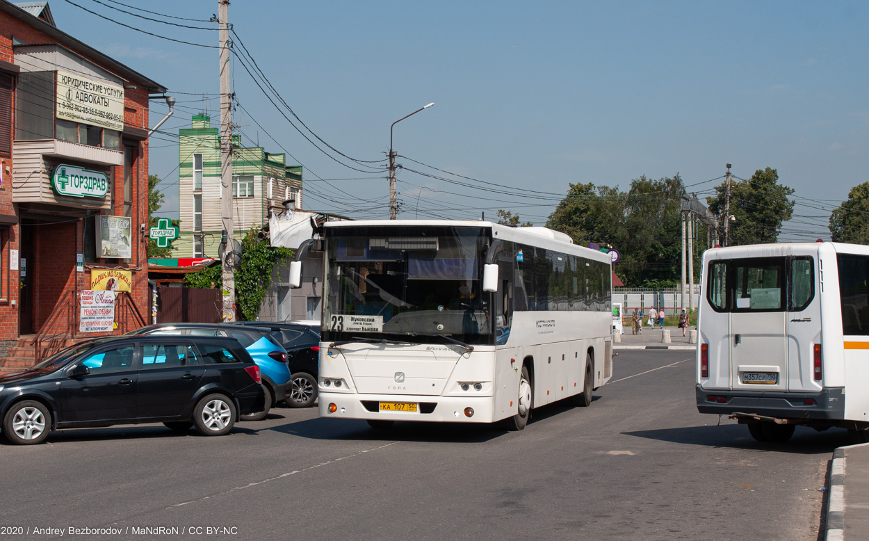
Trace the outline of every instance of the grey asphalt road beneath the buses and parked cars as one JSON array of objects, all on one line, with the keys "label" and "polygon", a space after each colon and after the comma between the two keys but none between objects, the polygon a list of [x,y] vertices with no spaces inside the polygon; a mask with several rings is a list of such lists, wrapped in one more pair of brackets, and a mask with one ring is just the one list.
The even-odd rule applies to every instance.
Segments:
[{"label": "grey asphalt road beneath the buses and parked cars", "polygon": [[818,538],[818,489],[846,431],[798,428],[788,444],[758,444],[743,426],[717,425],[696,410],[686,351],[621,351],[594,397],[534,411],[520,432],[377,433],[281,408],[227,437],[141,425],[4,443],[0,526],[30,531],[18,538],[161,526],[178,538]]}]

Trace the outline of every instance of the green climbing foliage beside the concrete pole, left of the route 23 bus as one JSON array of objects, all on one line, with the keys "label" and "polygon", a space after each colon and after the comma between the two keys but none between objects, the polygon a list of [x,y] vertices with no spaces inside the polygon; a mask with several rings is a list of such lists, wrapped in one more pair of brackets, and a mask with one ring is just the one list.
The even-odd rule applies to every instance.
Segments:
[{"label": "green climbing foliage beside the concrete pole, left of the route 23 bus", "polygon": [[[255,321],[260,313],[262,299],[271,284],[275,264],[293,257],[293,250],[276,248],[268,240],[258,236],[259,230],[251,228],[242,239],[242,266],[235,270],[235,305],[247,321]],[[220,264],[198,272],[191,272],[185,278],[188,287],[203,289],[222,288],[222,269]]]}]

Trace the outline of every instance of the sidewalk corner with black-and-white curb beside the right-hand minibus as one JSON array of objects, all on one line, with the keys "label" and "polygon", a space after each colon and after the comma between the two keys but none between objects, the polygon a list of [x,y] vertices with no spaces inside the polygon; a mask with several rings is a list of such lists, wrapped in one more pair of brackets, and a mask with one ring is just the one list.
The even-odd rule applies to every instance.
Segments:
[{"label": "sidewalk corner with black-and-white curb beside the right-hand minibus", "polygon": [[[847,474],[847,475],[846,475]],[[833,453],[826,539],[869,537],[869,444],[839,447]]]}]

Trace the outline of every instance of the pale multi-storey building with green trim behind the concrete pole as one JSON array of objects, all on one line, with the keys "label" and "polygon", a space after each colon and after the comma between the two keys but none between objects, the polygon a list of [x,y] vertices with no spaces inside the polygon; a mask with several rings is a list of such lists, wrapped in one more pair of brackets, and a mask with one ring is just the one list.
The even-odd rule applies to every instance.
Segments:
[{"label": "pale multi-storey building with green trim behind the concrete pole", "polygon": [[[222,237],[220,200],[220,127],[211,117],[195,115],[190,128],[179,131],[179,237],[172,257],[217,257]],[[302,208],[302,167],[287,165],[286,155],[261,147],[242,148],[233,137],[232,211],[234,237],[269,222],[269,210],[284,210],[295,200]]]}]

